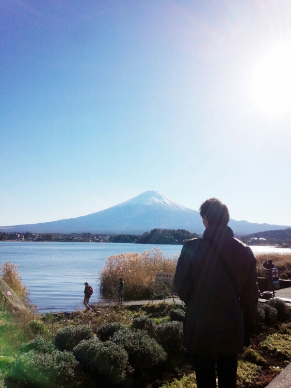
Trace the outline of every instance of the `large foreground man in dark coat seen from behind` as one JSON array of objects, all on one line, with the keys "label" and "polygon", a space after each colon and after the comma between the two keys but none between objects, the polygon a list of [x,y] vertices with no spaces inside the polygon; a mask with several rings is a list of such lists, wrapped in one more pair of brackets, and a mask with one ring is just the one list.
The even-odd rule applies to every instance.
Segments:
[{"label": "large foreground man in dark coat seen from behind", "polygon": [[238,355],[256,322],[258,283],[252,250],[227,226],[217,198],[200,206],[203,238],[185,242],[174,284],[187,306],[183,345],[193,355],[198,388],[236,387]]}]

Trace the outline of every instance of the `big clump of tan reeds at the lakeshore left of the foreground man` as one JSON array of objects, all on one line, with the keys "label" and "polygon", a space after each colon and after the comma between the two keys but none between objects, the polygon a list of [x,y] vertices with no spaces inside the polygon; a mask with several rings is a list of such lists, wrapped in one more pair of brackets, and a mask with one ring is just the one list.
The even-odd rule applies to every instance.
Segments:
[{"label": "big clump of tan reeds at the lakeshore left of the foreground man", "polygon": [[155,287],[155,273],[175,274],[178,256],[173,259],[153,247],[142,253],[123,253],[106,259],[100,276],[101,292],[105,298],[118,299],[119,278],[124,281],[125,300],[150,298],[152,291],[170,294],[173,285]]}]

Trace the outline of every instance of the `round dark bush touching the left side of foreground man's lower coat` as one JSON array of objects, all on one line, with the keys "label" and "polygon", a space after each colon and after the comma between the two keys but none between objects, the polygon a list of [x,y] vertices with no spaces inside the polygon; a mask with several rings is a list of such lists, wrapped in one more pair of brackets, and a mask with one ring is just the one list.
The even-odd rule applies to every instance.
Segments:
[{"label": "round dark bush touching the left side of foreground man's lower coat", "polygon": [[155,330],[154,338],[166,352],[182,350],[183,323],[173,321],[159,324]]}]

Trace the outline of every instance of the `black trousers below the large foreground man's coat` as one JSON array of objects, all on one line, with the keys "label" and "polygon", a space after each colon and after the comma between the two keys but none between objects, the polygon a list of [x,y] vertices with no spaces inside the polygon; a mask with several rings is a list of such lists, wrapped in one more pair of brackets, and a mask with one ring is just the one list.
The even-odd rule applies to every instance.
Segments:
[{"label": "black trousers below the large foreground man's coat", "polygon": [[215,358],[219,388],[235,388],[238,356],[203,356],[194,354],[197,388],[216,388]]}]

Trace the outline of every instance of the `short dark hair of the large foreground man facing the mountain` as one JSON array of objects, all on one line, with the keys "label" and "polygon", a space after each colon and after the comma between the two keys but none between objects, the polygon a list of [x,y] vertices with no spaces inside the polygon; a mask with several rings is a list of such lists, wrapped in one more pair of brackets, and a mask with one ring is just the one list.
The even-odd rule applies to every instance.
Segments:
[{"label": "short dark hair of the large foreground man facing the mountain", "polygon": [[218,198],[209,198],[199,208],[200,216],[206,216],[209,225],[226,226],[229,221],[227,206]]}]

